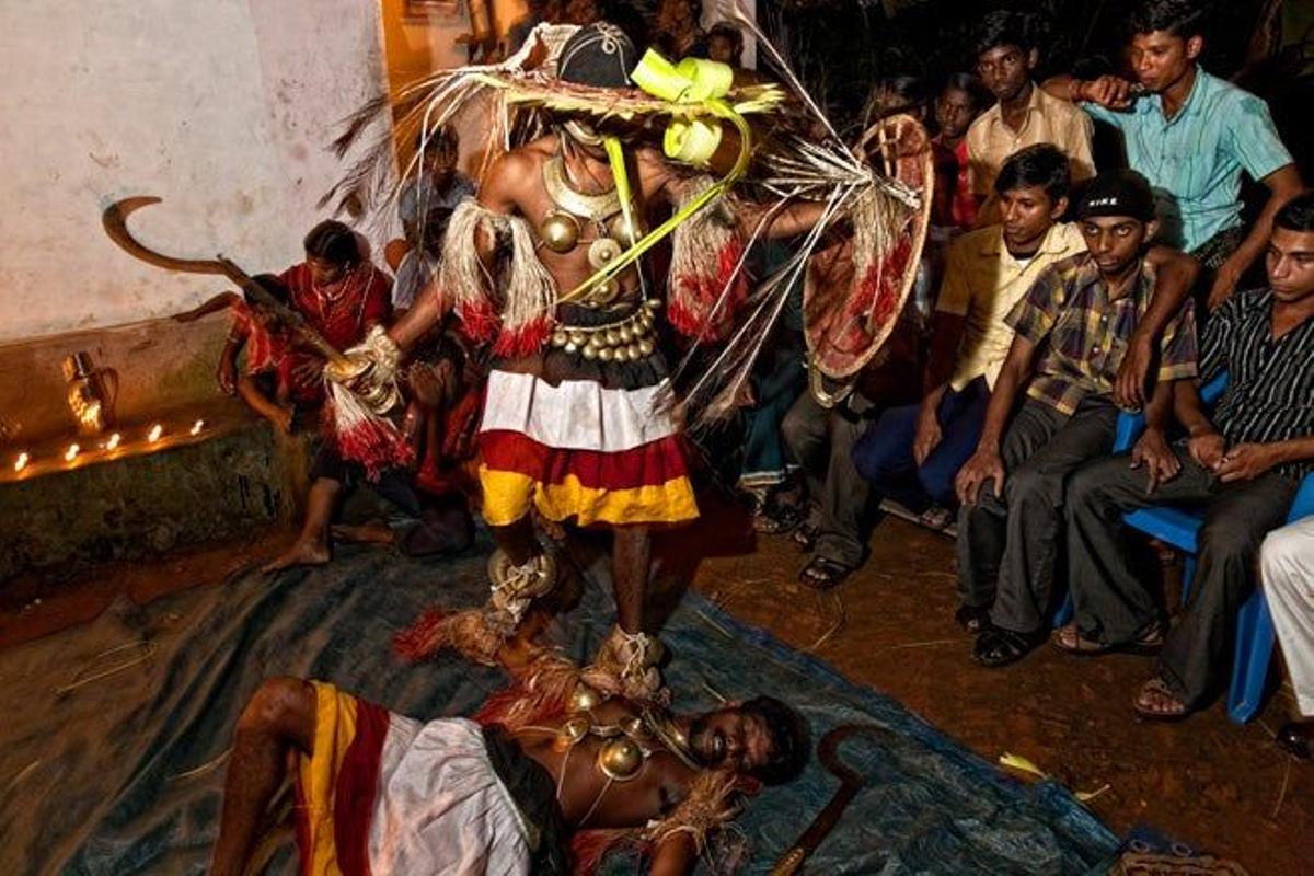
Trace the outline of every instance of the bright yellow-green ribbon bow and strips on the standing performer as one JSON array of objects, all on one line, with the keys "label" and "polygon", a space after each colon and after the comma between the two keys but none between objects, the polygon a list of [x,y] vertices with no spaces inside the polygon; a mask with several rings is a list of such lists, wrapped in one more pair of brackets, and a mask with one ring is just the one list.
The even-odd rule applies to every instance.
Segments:
[{"label": "bright yellow-green ribbon bow and strips on the standing performer", "polygon": [[[573,301],[590,289],[616,276],[636,261],[662,238],[714,200],[720,197],[748,171],[753,152],[753,131],[741,114],[741,109],[758,109],[757,105],[732,106],[725,97],[735,80],[729,66],[702,58],[686,58],[678,64],[670,63],[661,53],[649,49],[629,77],[641,89],[674,104],[673,118],[662,138],[662,151],[666,158],[706,167],[721,143],[721,121],[731,122],[740,134],[740,151],[729,172],[712,185],[703,189],[689,204],[675,211],[669,219],[644,235],[632,247],[612,259],[582,284],[561,296],[558,303]],[[678,108],[678,109],[677,109]],[[611,164],[611,175],[616,180],[616,193],[620,196],[622,210],[629,217],[629,177],[625,172],[624,152],[620,141],[604,137],[603,146]],[[629,227],[635,227],[629,225]]]}]

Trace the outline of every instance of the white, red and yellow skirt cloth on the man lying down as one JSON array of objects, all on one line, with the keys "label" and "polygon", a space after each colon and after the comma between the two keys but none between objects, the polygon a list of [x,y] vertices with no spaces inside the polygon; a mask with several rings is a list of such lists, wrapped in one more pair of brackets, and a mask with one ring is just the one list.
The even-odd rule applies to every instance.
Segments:
[{"label": "white, red and yellow skirt cloth on the man lying down", "polygon": [[314,687],[314,749],[296,775],[305,876],[564,872],[549,847],[561,835],[555,783],[514,742]]}]

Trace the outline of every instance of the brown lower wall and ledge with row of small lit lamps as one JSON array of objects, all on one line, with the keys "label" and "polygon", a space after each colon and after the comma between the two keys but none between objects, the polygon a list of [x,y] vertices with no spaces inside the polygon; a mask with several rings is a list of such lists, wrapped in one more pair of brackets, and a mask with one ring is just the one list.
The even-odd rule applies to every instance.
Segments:
[{"label": "brown lower wall and ledge with row of small lit lamps", "polygon": [[[227,327],[215,314],[0,345],[0,582],[146,558],[294,516],[309,440],[276,435],[218,391]],[[59,368],[74,351],[120,385],[116,424],[101,436],[74,433]],[[66,460],[74,443],[80,449]]]}]

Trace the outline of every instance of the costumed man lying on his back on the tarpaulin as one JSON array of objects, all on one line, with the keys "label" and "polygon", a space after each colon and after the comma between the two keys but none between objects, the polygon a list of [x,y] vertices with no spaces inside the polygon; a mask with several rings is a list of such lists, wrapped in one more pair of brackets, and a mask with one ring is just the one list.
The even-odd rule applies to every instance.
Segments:
[{"label": "costumed man lying on his back on the tarpaulin", "polygon": [[[807,759],[805,725],[770,697],[673,716],[606,699],[561,658],[530,667],[473,721],[265,682],[237,725],[210,872],[250,872],[290,768],[306,873],[552,876],[590,872],[618,844],[646,852],[654,873],[687,873],[740,792],[787,781]],[[555,714],[532,692],[543,675],[576,686]]]}]

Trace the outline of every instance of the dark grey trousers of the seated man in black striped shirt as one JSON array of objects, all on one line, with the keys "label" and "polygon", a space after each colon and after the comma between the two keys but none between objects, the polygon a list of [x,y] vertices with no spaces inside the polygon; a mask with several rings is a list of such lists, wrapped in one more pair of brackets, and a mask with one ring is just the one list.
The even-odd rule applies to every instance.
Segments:
[{"label": "dark grey trousers of the seated man in black striped shirt", "polygon": [[1231,626],[1255,575],[1264,535],[1286,520],[1300,486],[1275,471],[1222,483],[1173,448],[1181,473],[1146,494],[1148,477],[1126,456],[1100,460],[1072,475],[1067,496],[1068,580],[1083,636],[1108,645],[1137,637],[1159,608],[1129,562],[1122,515],[1152,504],[1208,503],[1196,536],[1196,577],[1159,655],[1159,676],[1194,708],[1226,666]]}]

